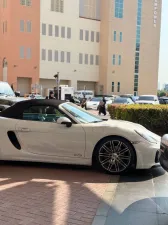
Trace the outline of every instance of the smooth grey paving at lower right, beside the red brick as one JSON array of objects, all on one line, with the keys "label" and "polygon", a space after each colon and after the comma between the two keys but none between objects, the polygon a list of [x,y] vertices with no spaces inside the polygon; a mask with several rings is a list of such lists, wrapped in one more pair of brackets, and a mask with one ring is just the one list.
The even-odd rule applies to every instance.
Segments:
[{"label": "smooth grey paving at lower right, beside the red brick", "polygon": [[92,225],[135,224],[168,225],[168,174],[161,168],[122,176],[108,204],[98,208]]}]

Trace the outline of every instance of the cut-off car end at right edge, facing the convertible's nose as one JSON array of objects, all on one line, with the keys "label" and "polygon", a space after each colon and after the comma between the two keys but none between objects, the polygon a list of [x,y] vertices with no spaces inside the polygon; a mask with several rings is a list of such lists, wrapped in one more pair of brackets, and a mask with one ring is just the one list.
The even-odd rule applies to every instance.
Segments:
[{"label": "cut-off car end at right edge, facing the convertible's nose", "polygon": [[161,139],[159,161],[163,169],[168,172],[168,134],[165,134]]}]

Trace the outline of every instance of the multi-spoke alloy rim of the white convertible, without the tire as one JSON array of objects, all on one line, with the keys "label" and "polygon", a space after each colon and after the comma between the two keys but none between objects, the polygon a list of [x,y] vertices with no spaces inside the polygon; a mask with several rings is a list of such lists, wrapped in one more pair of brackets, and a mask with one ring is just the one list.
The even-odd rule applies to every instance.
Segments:
[{"label": "multi-spoke alloy rim of the white convertible, without the tire", "polygon": [[120,140],[108,141],[99,150],[99,163],[111,173],[121,173],[127,170],[131,157],[131,150]]}]

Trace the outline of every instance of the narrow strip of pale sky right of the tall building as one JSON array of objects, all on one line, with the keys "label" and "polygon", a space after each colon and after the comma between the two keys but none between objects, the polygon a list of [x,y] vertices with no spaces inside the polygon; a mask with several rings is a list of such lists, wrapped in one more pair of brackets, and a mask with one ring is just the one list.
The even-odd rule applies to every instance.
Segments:
[{"label": "narrow strip of pale sky right of the tall building", "polygon": [[159,84],[168,83],[168,0],[162,0],[162,23],[160,39]]}]

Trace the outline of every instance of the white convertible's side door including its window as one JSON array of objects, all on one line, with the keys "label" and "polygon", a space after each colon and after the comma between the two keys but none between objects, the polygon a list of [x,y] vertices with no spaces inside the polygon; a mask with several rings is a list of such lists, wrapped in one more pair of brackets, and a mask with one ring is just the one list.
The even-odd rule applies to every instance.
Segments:
[{"label": "white convertible's side door including its window", "polygon": [[[80,124],[67,128],[56,120],[65,116],[54,108],[54,113],[44,112],[48,107],[30,107],[23,113],[23,120],[16,125],[22,151],[36,155],[58,157],[83,157],[85,131]],[[51,107],[50,107],[51,108]]]}]

